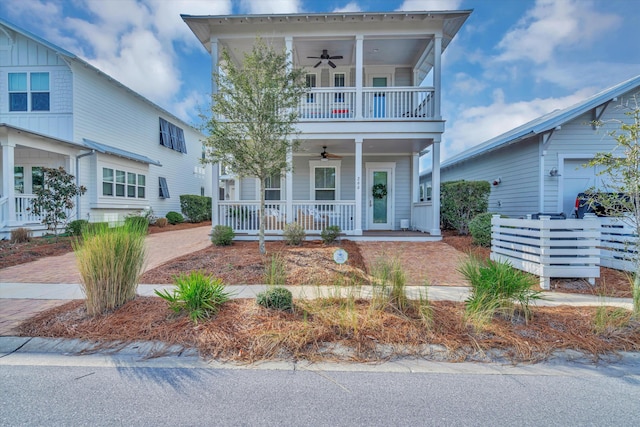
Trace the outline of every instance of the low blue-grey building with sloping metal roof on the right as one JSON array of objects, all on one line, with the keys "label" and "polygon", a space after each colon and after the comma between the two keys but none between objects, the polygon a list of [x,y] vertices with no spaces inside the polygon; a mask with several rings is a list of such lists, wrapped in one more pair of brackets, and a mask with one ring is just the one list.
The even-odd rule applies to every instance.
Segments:
[{"label": "low blue-grey building with sloping metal roof on the right", "polygon": [[[629,121],[621,104],[640,99],[640,76],[606,89],[563,110],[556,110],[483,142],[442,163],[442,182],[484,180],[492,184],[489,211],[509,217],[535,213],[574,214],[578,193],[604,188],[607,177],[584,167],[597,152],[611,151],[608,135]],[[591,122],[599,120],[596,128]],[[616,122],[618,121],[618,122]],[[432,173],[420,183],[428,194]]]}]

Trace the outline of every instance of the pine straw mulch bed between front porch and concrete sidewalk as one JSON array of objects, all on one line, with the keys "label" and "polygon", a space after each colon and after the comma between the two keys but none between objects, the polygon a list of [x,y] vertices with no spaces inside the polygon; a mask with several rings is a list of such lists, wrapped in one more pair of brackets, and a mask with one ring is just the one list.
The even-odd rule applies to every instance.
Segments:
[{"label": "pine straw mulch bed between front porch and concrete sidewalk", "polygon": [[[343,248],[348,261],[339,265],[333,252]],[[227,285],[264,284],[265,267],[273,256],[280,257],[287,272],[287,285],[345,285],[367,282],[367,269],[358,245],[349,240],[325,245],[306,241],[301,246],[287,246],[282,241],[266,242],[267,255],[262,256],[258,242],[233,242],[231,246],[213,246],[173,259],[145,272],[140,283],[170,284],[173,278],[189,271],[203,271],[219,277]]]}]

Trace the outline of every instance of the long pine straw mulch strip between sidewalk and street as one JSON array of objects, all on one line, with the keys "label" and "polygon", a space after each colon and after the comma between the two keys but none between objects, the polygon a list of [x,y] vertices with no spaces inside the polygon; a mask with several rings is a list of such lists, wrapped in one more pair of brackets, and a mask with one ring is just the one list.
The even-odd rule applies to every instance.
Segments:
[{"label": "long pine straw mulch strip between sidewalk and street", "polygon": [[562,350],[597,361],[619,351],[640,351],[640,324],[629,320],[629,312],[626,325],[601,333],[593,327],[597,308],[566,306],[534,307],[529,324],[496,317],[477,331],[465,324],[462,303],[435,301],[432,307],[433,324],[427,328],[415,309],[406,315],[371,310],[364,300],[296,301],[291,313],[244,299],[224,304],[214,318],[196,325],[157,297],[138,297],[93,318],[82,301],[72,301],[26,321],[20,333],[94,341],[96,350],[117,348],[114,343],[160,341],[197,348],[204,358],[239,363],[380,362],[402,356],[519,363],[545,360]]}]

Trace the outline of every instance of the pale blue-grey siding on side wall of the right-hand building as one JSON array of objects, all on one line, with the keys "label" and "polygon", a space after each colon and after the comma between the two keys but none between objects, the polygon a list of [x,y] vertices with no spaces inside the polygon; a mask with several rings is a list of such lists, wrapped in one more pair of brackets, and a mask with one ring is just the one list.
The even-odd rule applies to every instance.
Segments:
[{"label": "pale blue-grey siding on side wall of the right-hand building", "polygon": [[442,182],[488,181],[491,186],[489,212],[519,217],[538,212],[539,148],[536,138],[492,151],[469,161],[442,169]]}]

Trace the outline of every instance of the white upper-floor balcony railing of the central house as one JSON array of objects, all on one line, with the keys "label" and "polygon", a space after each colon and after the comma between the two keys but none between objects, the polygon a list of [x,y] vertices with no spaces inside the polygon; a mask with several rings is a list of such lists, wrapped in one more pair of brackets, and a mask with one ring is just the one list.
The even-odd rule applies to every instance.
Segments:
[{"label": "white upper-floor balcony railing of the central house", "polygon": [[432,87],[367,87],[362,89],[362,105],[356,104],[354,87],[312,88],[300,98],[301,121],[314,120],[430,120],[434,118]]}]

